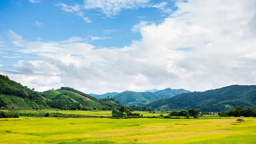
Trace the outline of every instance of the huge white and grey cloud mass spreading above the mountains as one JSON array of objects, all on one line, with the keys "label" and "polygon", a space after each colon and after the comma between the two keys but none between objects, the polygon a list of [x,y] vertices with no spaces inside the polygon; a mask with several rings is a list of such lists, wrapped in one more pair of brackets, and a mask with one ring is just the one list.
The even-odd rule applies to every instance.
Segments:
[{"label": "huge white and grey cloud mass spreading above the mountains", "polygon": [[99,94],[256,84],[254,0],[188,0],[176,7],[162,23],[135,28],[141,40],[122,48],[95,49],[79,38],[30,42],[10,31],[18,52],[43,59],[18,61],[16,71],[0,72],[38,91],[69,86]]}]

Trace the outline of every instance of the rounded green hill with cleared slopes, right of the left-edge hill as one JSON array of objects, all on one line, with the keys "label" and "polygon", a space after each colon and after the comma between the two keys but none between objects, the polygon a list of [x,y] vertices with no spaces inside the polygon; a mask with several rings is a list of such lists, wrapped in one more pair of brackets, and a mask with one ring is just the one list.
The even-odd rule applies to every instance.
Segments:
[{"label": "rounded green hill with cleared slopes, right of the left-edge hill", "polygon": [[93,96],[69,87],[45,91],[42,92],[42,96],[52,101],[49,102],[52,108],[60,109],[112,110],[120,105],[113,99],[98,100]]}]

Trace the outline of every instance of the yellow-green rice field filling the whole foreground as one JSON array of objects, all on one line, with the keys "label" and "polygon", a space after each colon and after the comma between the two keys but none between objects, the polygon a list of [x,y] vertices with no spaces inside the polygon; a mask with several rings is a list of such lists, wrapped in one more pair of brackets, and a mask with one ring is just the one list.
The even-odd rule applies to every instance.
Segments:
[{"label": "yellow-green rice field filling the whole foreground", "polygon": [[2,118],[0,143],[256,143],[256,118],[236,119]]}]

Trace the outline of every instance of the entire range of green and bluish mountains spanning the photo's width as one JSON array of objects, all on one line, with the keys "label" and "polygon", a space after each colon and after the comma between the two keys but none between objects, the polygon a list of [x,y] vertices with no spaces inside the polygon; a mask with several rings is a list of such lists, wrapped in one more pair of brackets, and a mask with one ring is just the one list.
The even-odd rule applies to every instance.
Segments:
[{"label": "entire range of green and bluish mountains spanning the photo's width", "polygon": [[[124,105],[137,105],[154,110],[198,108],[205,112],[220,112],[239,105],[256,106],[256,85],[231,85],[204,92],[170,89],[156,92],[125,91],[113,98],[95,97],[69,87],[36,92],[8,76],[0,75],[0,107],[18,109],[57,108],[68,110],[114,110]],[[135,106],[136,107],[136,106]]]}]

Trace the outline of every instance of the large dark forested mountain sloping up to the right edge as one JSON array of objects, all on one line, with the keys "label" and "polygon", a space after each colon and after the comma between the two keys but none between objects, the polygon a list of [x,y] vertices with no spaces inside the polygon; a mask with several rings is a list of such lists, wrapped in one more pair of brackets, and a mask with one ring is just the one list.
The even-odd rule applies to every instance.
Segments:
[{"label": "large dark forested mountain sloping up to the right edge", "polygon": [[156,110],[199,108],[206,112],[220,112],[239,105],[256,106],[256,85],[231,85],[205,92],[181,93],[147,105]]}]

